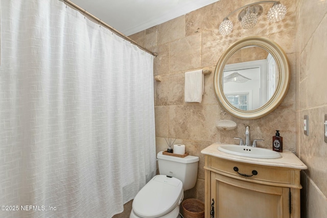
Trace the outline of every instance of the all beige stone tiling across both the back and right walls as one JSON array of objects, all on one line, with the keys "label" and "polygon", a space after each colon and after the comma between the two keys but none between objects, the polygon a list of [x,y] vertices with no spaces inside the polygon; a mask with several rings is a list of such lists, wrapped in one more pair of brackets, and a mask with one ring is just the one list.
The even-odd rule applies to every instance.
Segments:
[{"label": "all beige stone tiling across both the back and right walls", "polygon": [[[161,25],[130,36],[158,56],[154,59],[155,122],[157,151],[167,149],[165,138],[177,138],[186,151],[199,156],[196,187],[186,191],[185,198],[204,201],[204,157],[200,153],[213,142],[236,143],[233,137],[245,137],[250,126],[251,138],[264,139],[259,147],[271,148],[272,136],[278,129],[284,137],[284,149],[296,152],[309,169],[302,173],[303,217],[325,217],[327,214],[327,143],[321,140],[322,116],[327,113],[327,1],[284,0],[286,18],[268,23],[265,15],[251,30],[243,30],[237,14],[230,17],[234,30],[221,36],[218,27],[229,12],[257,1],[221,0]],[[271,5],[263,5],[266,14]],[[314,12],[313,12],[314,11]],[[283,103],[271,114],[254,120],[243,120],[228,114],[218,103],[213,74],[205,76],[202,103],[184,102],[184,72],[215,66],[224,50],[233,42],[262,36],[283,47],[291,67],[290,89]],[[326,65],[326,66],[325,66]],[[320,91],[320,92],[319,92]],[[303,135],[302,117],[309,114],[312,129]],[[216,122],[230,119],[237,129],[223,131]]]}]

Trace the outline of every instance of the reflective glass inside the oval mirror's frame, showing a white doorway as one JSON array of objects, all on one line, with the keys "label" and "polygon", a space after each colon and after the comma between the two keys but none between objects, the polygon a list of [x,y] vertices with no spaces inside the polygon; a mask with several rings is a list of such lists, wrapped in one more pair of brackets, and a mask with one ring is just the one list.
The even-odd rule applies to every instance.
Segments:
[{"label": "reflective glass inside the oval mirror's frame, showing a white doorway", "polygon": [[225,98],[244,111],[265,105],[275,92],[277,82],[276,62],[260,46],[244,46],[233,53],[223,71]]}]

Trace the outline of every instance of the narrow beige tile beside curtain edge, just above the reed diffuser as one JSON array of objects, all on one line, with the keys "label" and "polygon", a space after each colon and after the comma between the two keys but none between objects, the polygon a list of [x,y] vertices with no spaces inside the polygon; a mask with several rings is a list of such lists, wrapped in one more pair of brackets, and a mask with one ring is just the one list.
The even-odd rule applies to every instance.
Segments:
[{"label": "narrow beige tile beside curtain edge, just above the reed diffuser", "polygon": [[169,106],[155,106],[155,135],[168,137],[169,133]]}]

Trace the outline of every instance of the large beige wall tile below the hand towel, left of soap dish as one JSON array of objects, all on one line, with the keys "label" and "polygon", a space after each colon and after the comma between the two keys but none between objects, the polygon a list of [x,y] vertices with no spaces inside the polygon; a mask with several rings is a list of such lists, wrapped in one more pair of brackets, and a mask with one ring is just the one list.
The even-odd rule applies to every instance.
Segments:
[{"label": "large beige wall tile below the hand towel, left of soap dish", "polygon": [[196,141],[217,141],[216,105],[177,105],[170,106],[169,133],[172,137]]}]

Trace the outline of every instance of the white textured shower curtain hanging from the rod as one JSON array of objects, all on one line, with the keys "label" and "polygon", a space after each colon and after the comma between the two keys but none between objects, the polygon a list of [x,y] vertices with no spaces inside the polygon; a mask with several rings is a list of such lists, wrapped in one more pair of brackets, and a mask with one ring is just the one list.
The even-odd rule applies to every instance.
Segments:
[{"label": "white textured shower curtain hanging from the rod", "polygon": [[1,1],[0,217],[112,217],[156,173],[153,56],[58,0]]}]

